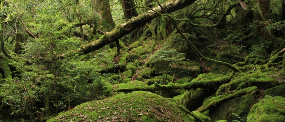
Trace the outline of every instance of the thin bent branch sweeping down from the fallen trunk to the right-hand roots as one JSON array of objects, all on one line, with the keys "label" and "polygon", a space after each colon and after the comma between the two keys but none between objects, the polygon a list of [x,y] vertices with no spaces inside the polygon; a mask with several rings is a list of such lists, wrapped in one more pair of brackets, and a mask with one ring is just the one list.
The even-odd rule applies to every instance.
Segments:
[{"label": "thin bent branch sweeping down from the fallen trunk to the right-hand roots", "polygon": [[[158,1],[157,1],[158,2]],[[167,13],[167,11],[163,8],[163,6],[161,4],[159,4],[158,2],[158,5],[160,6],[160,8],[164,11],[164,13]],[[219,65],[224,65],[226,67],[229,67],[231,68],[232,70],[234,70],[235,72],[239,72],[240,70],[236,67],[236,66],[233,66],[231,65],[230,63],[226,63],[226,62],[222,62],[222,61],[217,61],[217,60],[214,60],[214,59],[210,59],[210,58],[207,58],[205,56],[203,56],[199,51],[198,49],[188,40],[188,38],[186,38],[186,36],[181,32],[181,30],[177,27],[177,25],[174,23],[174,19],[172,17],[170,17],[168,14],[165,14],[166,16],[168,16],[168,18],[170,19],[171,23],[174,25],[174,27],[176,28],[176,30],[179,32],[179,34],[184,38],[184,40],[190,45],[190,47],[194,50],[194,52],[201,58],[201,60],[205,60],[205,61],[208,61],[208,62],[211,62],[211,63],[216,63],[216,64],[219,64]]]}]

